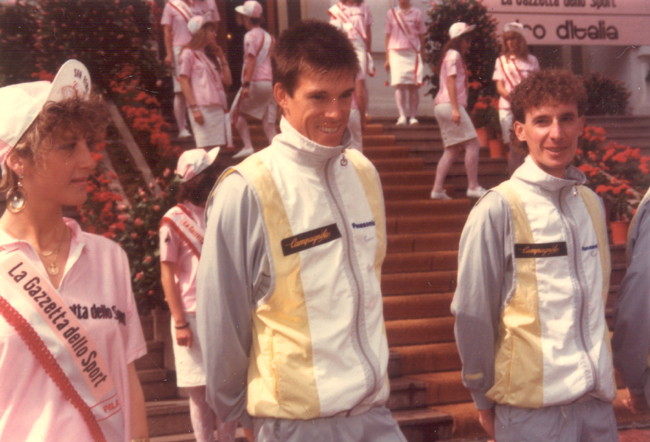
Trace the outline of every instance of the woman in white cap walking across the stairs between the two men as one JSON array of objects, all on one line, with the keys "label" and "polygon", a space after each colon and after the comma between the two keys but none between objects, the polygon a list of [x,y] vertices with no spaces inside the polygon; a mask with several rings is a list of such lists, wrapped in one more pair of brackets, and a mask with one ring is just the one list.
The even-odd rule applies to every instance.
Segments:
[{"label": "woman in white cap walking across the stairs between the two men", "polygon": [[467,172],[467,196],[480,198],[485,189],[478,184],[478,154],[480,143],[476,129],[465,110],[467,106],[467,67],[464,56],[471,45],[471,34],[475,26],[458,22],[449,28],[449,40],[442,48],[438,65],[440,89],[434,100],[434,113],[445,146],[431,191],[432,199],[451,199],[442,188],[445,178],[462,149],[465,149],[465,171]]}]

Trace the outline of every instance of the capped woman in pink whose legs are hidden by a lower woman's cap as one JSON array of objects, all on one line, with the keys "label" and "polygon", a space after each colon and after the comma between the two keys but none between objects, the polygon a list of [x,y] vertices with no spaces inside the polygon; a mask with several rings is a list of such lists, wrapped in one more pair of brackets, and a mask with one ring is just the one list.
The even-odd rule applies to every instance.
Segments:
[{"label": "capped woman in pink whose legs are hidden by a lower woman's cap", "polygon": [[[210,14],[192,17],[187,28],[192,39],[181,51],[179,70],[181,89],[190,108],[194,141],[196,147],[222,146],[230,134],[224,90],[224,85],[232,83],[230,67],[217,44],[217,25]],[[217,56],[216,65],[205,53],[208,48]]]}]

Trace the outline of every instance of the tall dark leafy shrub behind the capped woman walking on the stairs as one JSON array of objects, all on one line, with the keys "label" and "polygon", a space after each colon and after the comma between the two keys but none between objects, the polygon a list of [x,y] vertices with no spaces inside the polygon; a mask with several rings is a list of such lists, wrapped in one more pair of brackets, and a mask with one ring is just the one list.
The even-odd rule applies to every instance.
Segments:
[{"label": "tall dark leafy shrub behind the capped woman walking on the stairs", "polygon": [[[495,95],[496,86],[492,81],[494,63],[499,55],[499,45],[496,41],[496,19],[488,15],[488,10],[478,0],[444,0],[427,12],[426,60],[432,69],[437,66],[441,50],[449,41],[449,27],[459,21],[476,25],[472,32],[472,46],[466,55],[467,69],[470,72],[469,102],[471,109],[479,95]],[[429,93],[435,96],[438,92],[438,75],[427,77],[431,82]]]}]

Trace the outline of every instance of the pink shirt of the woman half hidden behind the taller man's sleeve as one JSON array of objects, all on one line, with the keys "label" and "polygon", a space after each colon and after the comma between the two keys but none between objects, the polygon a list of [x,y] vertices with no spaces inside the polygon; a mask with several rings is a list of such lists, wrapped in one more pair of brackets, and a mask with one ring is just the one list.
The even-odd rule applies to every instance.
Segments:
[{"label": "pink shirt of the woman half hidden behind the taller man's sleeve", "polygon": [[[194,204],[184,202],[183,206],[190,212],[192,219],[203,231],[205,222],[203,214],[205,209]],[[199,268],[199,258],[181,238],[180,234],[169,224],[160,226],[160,261],[176,264],[174,281],[179,289],[183,310],[187,313],[196,312],[196,271]]]}]

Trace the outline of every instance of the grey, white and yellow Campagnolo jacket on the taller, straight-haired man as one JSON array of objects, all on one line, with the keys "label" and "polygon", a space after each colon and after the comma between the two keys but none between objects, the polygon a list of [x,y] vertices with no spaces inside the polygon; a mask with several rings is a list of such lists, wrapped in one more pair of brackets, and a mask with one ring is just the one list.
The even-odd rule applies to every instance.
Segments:
[{"label": "grey, white and yellow Campagnolo jacket on the taller, straight-haired man", "polygon": [[223,421],[356,416],[389,395],[377,172],[281,129],[224,173],[206,209],[197,318]]}]

